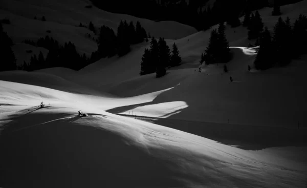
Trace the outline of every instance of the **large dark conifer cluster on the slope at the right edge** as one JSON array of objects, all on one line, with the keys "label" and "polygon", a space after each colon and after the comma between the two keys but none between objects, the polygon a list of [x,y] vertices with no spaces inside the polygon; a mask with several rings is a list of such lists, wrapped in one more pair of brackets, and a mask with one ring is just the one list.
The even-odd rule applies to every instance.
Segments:
[{"label": "large dark conifer cluster on the slope at the right edge", "polygon": [[266,27],[261,32],[260,48],[254,61],[256,69],[266,70],[275,65],[288,65],[293,58],[307,51],[307,17],[300,14],[291,24],[289,17],[281,17],[274,27],[273,36]]}]

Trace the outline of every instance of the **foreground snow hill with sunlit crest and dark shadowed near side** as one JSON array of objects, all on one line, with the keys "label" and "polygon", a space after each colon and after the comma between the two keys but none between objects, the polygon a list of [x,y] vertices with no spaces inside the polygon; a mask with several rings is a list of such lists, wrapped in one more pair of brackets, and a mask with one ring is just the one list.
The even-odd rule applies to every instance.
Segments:
[{"label": "foreground snow hill with sunlit crest and dark shadowed near side", "polygon": [[[1,102],[28,97],[23,104],[28,107],[16,106],[17,111],[1,115],[13,120],[6,121],[0,137],[4,187],[300,187],[306,175],[306,166],[292,157],[276,157],[270,150],[244,151],[106,113],[97,105],[111,99],[75,94],[82,101],[68,106],[72,95],[61,94],[53,102],[56,93],[50,89],[4,81],[0,86],[2,92],[15,93],[11,90],[16,87],[20,92],[20,99]],[[53,103],[45,109],[31,106],[38,93],[49,93],[44,97]],[[2,105],[0,112],[6,108]],[[80,108],[90,116],[76,116]]]}]

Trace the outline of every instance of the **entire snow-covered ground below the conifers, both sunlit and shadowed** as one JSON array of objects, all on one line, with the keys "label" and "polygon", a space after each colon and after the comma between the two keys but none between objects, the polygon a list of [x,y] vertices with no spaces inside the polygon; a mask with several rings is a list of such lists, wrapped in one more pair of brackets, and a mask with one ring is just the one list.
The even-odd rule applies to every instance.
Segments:
[{"label": "entire snow-covered ground below the conifers, both sunlit and shadowed", "polygon": [[[291,18],[306,9],[306,1],[281,8]],[[260,10],[272,29],[269,12]],[[0,186],[305,187],[306,57],[257,72],[256,49],[242,47],[246,29],[226,33],[229,73],[224,64],[194,72],[210,31],[168,39],[184,62],[159,79],[138,75],[147,43],[80,71],[1,72]]]}]

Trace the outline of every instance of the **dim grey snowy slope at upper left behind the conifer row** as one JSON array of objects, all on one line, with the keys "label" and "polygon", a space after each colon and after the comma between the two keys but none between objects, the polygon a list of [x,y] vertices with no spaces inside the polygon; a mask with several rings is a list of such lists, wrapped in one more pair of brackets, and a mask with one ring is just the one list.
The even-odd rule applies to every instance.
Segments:
[{"label": "dim grey snowy slope at upper left behind the conifer row", "polygon": [[[0,19],[8,18],[11,21],[10,25],[4,25],[4,30],[12,37],[14,43],[21,43],[25,39],[36,41],[39,37],[49,35],[62,45],[72,41],[77,51],[87,56],[97,49],[97,44],[92,38],[94,36],[96,39],[96,36],[89,29],[79,27],[80,22],[86,26],[92,22],[96,29],[106,25],[116,32],[121,19],[126,19],[127,22],[133,21],[134,24],[139,20],[152,36],[164,38],[181,38],[196,32],[194,28],[177,22],[157,23],[134,16],[105,12],[96,7],[87,9],[86,5],[91,5],[90,1],[1,1]],[[46,22],[41,22],[42,16],[46,17]],[[47,30],[51,30],[51,33],[47,33]],[[91,38],[86,36],[87,33],[91,34]],[[14,50],[14,52],[17,57],[22,58],[27,55],[25,51],[29,49],[31,48],[26,47],[24,51]],[[28,58],[19,59],[18,63],[24,60]]]}]

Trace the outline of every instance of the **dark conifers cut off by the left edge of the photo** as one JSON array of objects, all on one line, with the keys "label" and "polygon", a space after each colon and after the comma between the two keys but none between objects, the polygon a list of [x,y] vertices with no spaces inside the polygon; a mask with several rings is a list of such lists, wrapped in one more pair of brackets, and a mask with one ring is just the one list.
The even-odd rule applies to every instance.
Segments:
[{"label": "dark conifers cut off by the left edge of the photo", "polygon": [[16,70],[16,58],[12,50],[13,41],[6,32],[3,31],[2,23],[0,23],[0,71]]}]

